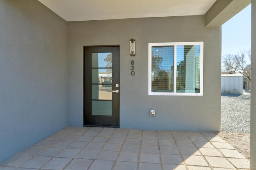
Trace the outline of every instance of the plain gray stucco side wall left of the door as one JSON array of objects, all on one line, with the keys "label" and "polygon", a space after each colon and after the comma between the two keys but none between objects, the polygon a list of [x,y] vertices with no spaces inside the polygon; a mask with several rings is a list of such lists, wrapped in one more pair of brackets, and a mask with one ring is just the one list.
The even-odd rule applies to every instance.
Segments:
[{"label": "plain gray stucco side wall left of the door", "polygon": [[0,162],[67,125],[67,22],[0,0]]}]

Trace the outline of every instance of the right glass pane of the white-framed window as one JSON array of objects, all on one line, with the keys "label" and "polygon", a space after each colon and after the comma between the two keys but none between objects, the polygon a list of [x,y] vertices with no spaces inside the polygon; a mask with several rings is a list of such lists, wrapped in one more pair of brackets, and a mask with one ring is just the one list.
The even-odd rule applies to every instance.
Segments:
[{"label": "right glass pane of the white-framed window", "polygon": [[177,92],[200,92],[200,45],[177,45]]}]

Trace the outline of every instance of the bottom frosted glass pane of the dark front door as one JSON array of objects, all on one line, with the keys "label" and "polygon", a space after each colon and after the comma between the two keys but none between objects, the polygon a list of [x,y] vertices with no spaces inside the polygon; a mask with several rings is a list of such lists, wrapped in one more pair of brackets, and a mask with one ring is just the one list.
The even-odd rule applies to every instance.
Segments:
[{"label": "bottom frosted glass pane of the dark front door", "polygon": [[112,116],[112,101],[92,101],[92,115]]}]

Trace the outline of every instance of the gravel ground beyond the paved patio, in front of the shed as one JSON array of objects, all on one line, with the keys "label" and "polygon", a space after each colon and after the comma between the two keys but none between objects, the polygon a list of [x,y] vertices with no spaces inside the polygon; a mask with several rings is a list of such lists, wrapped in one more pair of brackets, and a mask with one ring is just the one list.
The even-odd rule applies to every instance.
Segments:
[{"label": "gravel ground beyond the paved patio, in front of the shed", "polygon": [[242,95],[222,94],[221,132],[216,134],[227,141],[238,152],[250,159],[250,98]]}]

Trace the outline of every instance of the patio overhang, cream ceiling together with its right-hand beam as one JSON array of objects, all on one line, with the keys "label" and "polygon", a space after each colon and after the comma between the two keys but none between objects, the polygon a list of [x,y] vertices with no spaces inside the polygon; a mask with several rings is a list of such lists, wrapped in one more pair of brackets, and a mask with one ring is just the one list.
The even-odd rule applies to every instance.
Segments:
[{"label": "patio overhang, cream ceiling together with its right-hand beam", "polygon": [[206,27],[220,27],[251,0],[39,0],[66,21],[205,15]]}]

